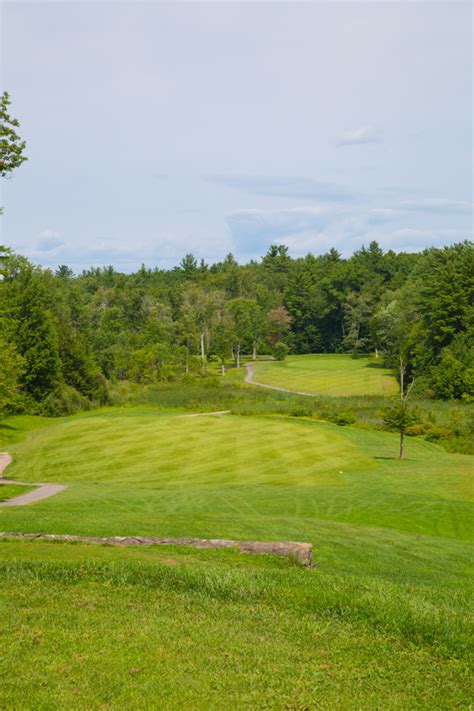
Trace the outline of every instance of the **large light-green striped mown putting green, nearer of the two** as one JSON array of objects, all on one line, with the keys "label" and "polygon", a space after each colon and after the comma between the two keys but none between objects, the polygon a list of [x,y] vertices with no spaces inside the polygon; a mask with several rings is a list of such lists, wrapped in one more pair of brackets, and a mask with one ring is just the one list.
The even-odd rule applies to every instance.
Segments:
[{"label": "large light-green striped mown putting green, nearer of the two", "polygon": [[129,411],[33,432],[9,476],[155,488],[203,484],[312,485],[371,460],[343,430],[281,417],[156,416]]}]

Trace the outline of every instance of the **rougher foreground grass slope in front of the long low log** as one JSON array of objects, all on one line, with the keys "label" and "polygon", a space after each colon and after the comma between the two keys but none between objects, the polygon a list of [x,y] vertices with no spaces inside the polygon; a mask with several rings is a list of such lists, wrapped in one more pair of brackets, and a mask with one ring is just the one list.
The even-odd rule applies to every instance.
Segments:
[{"label": "rougher foreground grass slope in front of the long low log", "polygon": [[0,704],[467,706],[454,579],[440,595],[429,571],[411,588],[324,558],[308,571],[232,551],[0,544]]}]

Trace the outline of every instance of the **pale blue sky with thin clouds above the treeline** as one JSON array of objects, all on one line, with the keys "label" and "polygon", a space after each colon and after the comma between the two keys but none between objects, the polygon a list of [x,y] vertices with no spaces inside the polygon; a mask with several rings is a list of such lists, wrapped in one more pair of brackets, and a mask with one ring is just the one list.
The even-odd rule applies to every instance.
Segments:
[{"label": "pale blue sky with thin clouds above the treeline", "polygon": [[76,273],[472,237],[470,2],[0,2],[0,243]]}]

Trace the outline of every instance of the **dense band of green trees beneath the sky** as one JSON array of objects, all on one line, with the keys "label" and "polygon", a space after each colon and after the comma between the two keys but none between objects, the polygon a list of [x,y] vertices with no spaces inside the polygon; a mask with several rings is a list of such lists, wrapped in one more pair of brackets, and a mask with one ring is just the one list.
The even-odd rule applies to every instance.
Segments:
[{"label": "dense band of green trees beneath the sky", "polygon": [[114,383],[222,374],[242,355],[377,351],[418,392],[474,394],[474,246],[419,254],[376,242],[293,259],[272,246],[239,265],[191,254],[172,270],[74,275],[0,252],[0,411],[67,414],[109,401]]}]

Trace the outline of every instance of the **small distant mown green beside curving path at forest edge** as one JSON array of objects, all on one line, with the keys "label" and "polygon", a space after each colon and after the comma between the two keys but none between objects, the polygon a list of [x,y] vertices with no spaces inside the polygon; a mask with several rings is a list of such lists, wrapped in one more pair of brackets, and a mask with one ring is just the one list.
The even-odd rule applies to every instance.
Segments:
[{"label": "small distant mown green beside curving path at forest edge", "polygon": [[394,395],[393,372],[376,358],[349,355],[289,356],[284,361],[257,361],[254,381],[313,395]]}]

